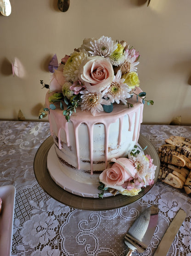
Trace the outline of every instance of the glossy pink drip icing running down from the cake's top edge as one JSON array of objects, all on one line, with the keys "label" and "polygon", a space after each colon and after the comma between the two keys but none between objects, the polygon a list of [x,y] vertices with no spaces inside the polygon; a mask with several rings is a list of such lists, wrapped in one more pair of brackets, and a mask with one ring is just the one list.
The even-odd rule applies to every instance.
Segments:
[{"label": "glossy pink drip icing running down from the cake's top edge", "polygon": [[[136,90],[138,91],[138,93],[141,91],[139,88],[137,88]],[[47,107],[49,106],[48,96],[49,95],[47,93],[47,97],[46,97],[46,106]],[[140,105],[140,104],[141,103],[139,101],[139,106],[141,106],[141,109],[142,109],[143,105],[142,104]],[[125,109],[124,107],[121,108],[121,110],[118,110],[116,108],[116,112],[115,112],[115,110],[113,110],[113,112],[111,114],[107,113],[107,116],[105,116],[104,113],[103,114],[100,113],[100,114],[98,114],[97,118],[95,118],[94,116],[92,116],[88,112],[84,112],[84,116],[83,116],[84,120],[81,119],[81,115],[78,115],[78,109],[77,109],[77,115],[75,116],[75,118],[71,117],[71,121],[73,122],[74,137],[75,137],[75,144],[76,144],[76,155],[77,155],[77,161],[78,161],[78,169],[80,169],[79,138],[78,138],[79,125],[82,124],[82,123],[85,123],[87,125],[87,128],[88,128],[89,147],[90,147],[90,168],[91,168],[91,174],[93,174],[93,126],[98,122],[104,124],[104,126],[105,126],[105,163],[106,163],[106,168],[107,168],[108,136],[109,136],[109,127],[112,123],[116,122],[117,119],[119,119],[119,134],[118,134],[118,145],[119,145],[121,143],[121,132],[122,132],[122,124],[123,124],[124,115],[128,114],[128,117],[129,117],[129,131],[131,131],[132,130],[132,119],[133,119],[133,115],[135,114],[135,127],[134,127],[134,133],[133,133],[133,141],[135,141],[135,137],[136,137],[135,136],[135,131],[136,131],[137,122],[138,122],[137,111],[140,109],[140,107],[137,106],[136,111],[135,111],[135,108],[134,108],[134,110],[133,110],[133,108],[132,108],[132,110],[129,110],[129,108]],[[68,131],[67,120],[62,115],[62,111],[53,110],[53,111],[51,111],[51,113],[54,116],[54,119],[55,119],[55,122],[56,122],[56,125],[57,125],[59,149],[62,148],[61,138],[60,138],[61,129],[63,129],[65,131],[67,146],[69,147],[70,143],[69,143],[69,131]],[[140,120],[142,121],[142,112],[141,112]],[[50,122],[51,135],[53,135],[51,119],[49,119],[49,122]],[[140,124],[139,124],[138,133],[139,133],[139,130],[140,130]],[[139,135],[138,133],[137,133],[137,136]]]}]

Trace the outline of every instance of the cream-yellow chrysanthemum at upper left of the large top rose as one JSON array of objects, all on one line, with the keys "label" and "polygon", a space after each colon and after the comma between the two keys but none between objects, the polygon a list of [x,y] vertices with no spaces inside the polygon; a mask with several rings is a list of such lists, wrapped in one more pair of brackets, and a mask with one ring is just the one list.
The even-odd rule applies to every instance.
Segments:
[{"label": "cream-yellow chrysanthemum at upper left of the large top rose", "polygon": [[71,54],[63,69],[63,75],[66,77],[67,81],[72,80],[74,82],[78,80],[79,65],[87,56],[88,54],[84,49],[80,52],[75,51]]}]

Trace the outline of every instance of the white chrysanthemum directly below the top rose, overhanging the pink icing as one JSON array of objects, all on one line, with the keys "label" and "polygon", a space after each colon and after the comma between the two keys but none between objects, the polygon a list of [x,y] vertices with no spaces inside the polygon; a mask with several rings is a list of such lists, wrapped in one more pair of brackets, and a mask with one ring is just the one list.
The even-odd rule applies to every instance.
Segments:
[{"label": "white chrysanthemum directly below the top rose, overhanging the pink icing", "polygon": [[81,91],[80,92],[82,103],[81,110],[90,110],[92,115],[95,116],[96,112],[103,111],[103,107],[101,104],[110,105],[107,100],[104,100],[102,93],[89,92],[89,91]]}]

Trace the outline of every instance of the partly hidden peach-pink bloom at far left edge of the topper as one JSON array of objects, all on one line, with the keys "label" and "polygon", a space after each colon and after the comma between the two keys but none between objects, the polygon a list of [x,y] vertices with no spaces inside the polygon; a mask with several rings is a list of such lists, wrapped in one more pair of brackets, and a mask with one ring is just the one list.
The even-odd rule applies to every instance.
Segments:
[{"label": "partly hidden peach-pink bloom at far left edge of the topper", "polygon": [[62,85],[66,83],[66,78],[63,76],[64,65],[59,65],[51,76],[50,90],[62,92]]}]

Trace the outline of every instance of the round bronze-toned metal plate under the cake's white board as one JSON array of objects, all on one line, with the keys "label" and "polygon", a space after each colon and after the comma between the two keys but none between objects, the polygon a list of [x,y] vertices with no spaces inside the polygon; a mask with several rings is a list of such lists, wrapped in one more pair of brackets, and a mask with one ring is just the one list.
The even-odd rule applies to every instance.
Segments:
[{"label": "round bronze-toned metal plate under the cake's white board", "polygon": [[[153,159],[153,164],[157,166],[154,179],[155,184],[157,182],[157,177],[160,169],[160,161],[156,149],[154,148],[152,143],[150,143],[150,141],[141,134],[138,143],[142,149],[147,146],[147,148],[144,150],[144,153],[145,155],[151,155],[151,158]],[[148,191],[150,191],[154,185],[153,184],[151,186],[146,186],[146,188],[143,188],[137,196],[123,196],[121,194],[118,194],[116,196],[104,197],[103,199],[83,197],[67,192],[53,181],[47,169],[47,155],[52,144],[53,139],[50,136],[39,147],[34,157],[34,174],[40,187],[49,196],[65,205],[83,210],[111,210],[115,208],[120,208],[136,202],[141,197],[145,196],[146,193],[148,193]]]}]

